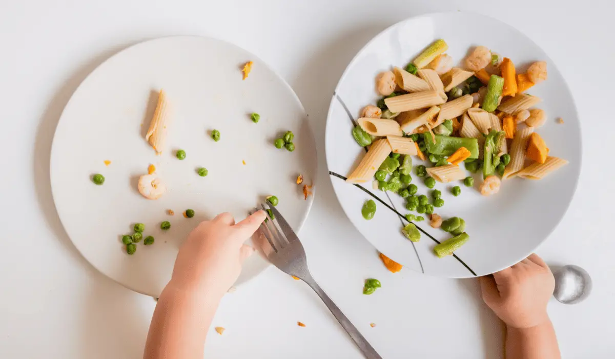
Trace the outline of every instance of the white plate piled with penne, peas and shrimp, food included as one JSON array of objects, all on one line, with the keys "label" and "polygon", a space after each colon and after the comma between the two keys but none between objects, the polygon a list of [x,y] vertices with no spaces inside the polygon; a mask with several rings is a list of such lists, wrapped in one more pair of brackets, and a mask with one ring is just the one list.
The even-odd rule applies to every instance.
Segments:
[{"label": "white plate piled with penne, peas and shrimp, food included", "polygon": [[581,169],[574,99],[547,54],[490,17],[410,18],[368,42],[327,118],[344,212],[383,259],[465,278],[515,264],[558,225]]}]

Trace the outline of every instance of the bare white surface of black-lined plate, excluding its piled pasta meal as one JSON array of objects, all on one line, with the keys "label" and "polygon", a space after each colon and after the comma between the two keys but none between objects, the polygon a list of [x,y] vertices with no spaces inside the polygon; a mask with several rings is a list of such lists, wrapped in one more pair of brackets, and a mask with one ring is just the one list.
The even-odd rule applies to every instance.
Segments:
[{"label": "bare white surface of black-lined plate, excluding its piled pasta meal", "polygon": [[[368,104],[375,104],[375,78],[393,66],[405,67],[436,39],[444,39],[447,53],[461,63],[472,46],[483,45],[509,57],[522,71],[533,61],[548,63],[549,79],[534,86],[529,94],[542,97],[538,106],[547,113],[547,122],[537,132],[550,148],[550,155],[568,159],[570,163],[540,181],[511,179],[502,183],[501,191],[489,198],[478,193],[482,182],[475,175],[475,188],[459,183],[437,184],[445,206],[436,212],[442,217],[459,216],[466,220],[470,240],[456,251],[456,257],[438,259],[435,241],[423,235],[419,243],[402,236],[402,222],[384,204],[372,220],[361,216],[362,204],[370,195],[331,175],[333,188],[346,215],[376,248],[400,264],[430,275],[463,278],[485,275],[512,265],[530,254],[560,222],[573,196],[581,169],[581,134],[572,95],[561,73],[547,54],[533,41],[512,26],[478,14],[450,12],[424,15],[397,23],[378,34],[360,50],[346,68],[336,87],[327,119],[327,166],[330,172],[348,175],[365,154],[351,135],[353,119]],[[561,117],[565,124],[556,123]],[[415,164],[417,161],[415,161]],[[423,180],[413,172],[418,194],[426,194]],[[454,197],[450,188],[461,185],[461,195]],[[400,196],[364,186],[384,203],[407,214]],[[436,240],[445,240],[448,233],[417,222]],[[463,264],[467,265],[467,267]]]}]

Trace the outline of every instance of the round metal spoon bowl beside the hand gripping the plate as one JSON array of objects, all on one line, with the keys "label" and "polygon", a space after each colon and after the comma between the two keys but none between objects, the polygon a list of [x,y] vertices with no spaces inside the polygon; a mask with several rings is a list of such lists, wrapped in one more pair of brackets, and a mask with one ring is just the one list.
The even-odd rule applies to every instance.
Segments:
[{"label": "round metal spoon bowl beside the hand gripping the plate", "polygon": [[565,265],[553,275],[555,276],[553,296],[563,304],[582,302],[592,291],[592,278],[577,265]]}]

